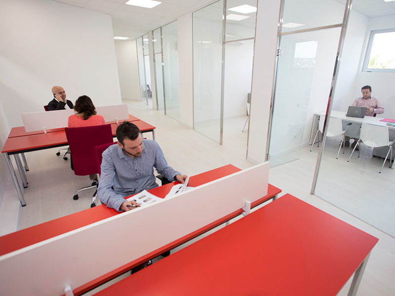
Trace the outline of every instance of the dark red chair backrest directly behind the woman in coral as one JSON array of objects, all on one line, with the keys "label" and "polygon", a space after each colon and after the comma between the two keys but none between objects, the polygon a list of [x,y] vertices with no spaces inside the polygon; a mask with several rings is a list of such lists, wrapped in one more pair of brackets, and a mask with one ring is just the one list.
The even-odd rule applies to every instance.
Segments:
[{"label": "dark red chair backrest directly behind the woman in coral", "polygon": [[99,173],[94,147],[113,143],[110,124],[85,127],[66,127],[74,173],[78,176]]}]

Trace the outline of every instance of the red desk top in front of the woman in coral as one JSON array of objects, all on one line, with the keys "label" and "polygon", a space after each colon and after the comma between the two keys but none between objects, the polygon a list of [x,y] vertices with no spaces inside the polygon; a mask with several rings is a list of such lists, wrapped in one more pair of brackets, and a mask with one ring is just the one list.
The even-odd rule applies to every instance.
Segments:
[{"label": "red desk top in front of the woman in coral", "polygon": [[[155,126],[142,121],[137,120],[133,121],[134,124],[142,131],[152,131],[155,129]],[[114,123],[111,124],[111,129],[113,132],[113,136],[115,136],[116,129],[118,124]],[[25,130],[24,127],[22,127]],[[13,128],[15,129],[15,128]],[[16,133],[13,133],[14,135]],[[1,153],[21,153],[21,152],[28,152],[28,151],[35,151],[40,149],[46,148],[53,148],[59,146],[66,146],[67,145],[67,138],[66,133],[63,130],[61,131],[53,131],[48,132],[46,134],[39,133],[39,134],[32,134],[32,135],[25,135],[25,136],[16,136],[16,137],[8,137],[5,141],[3,148],[1,149]]]}]

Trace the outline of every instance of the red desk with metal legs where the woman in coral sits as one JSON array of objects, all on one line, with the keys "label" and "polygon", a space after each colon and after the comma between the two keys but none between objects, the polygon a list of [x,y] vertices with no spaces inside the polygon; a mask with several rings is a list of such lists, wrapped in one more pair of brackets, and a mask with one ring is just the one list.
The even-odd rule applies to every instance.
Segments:
[{"label": "red desk with metal legs where the woman in coral sits", "polygon": [[[140,129],[142,133],[152,132],[153,139],[155,140],[155,126],[145,121],[135,120],[135,119],[137,119],[137,117],[134,117],[129,114],[129,120],[133,120],[133,123],[137,125],[137,127]],[[117,126],[118,125],[116,123],[111,124],[114,137],[115,137]],[[7,141],[5,141],[5,144],[1,149],[1,153],[5,154],[8,170],[10,171],[12,181],[14,183],[15,189],[17,191],[22,206],[25,206],[26,202],[25,199],[23,198],[22,190],[19,187],[18,179],[16,177],[12,163],[9,159],[9,155],[14,154],[18,171],[22,179],[22,184],[26,188],[28,182],[25,175],[25,170],[22,167],[22,162],[18,154],[22,154],[22,158],[25,162],[25,168],[28,171],[26,159],[24,158],[23,153],[42,150],[42,149],[62,147],[67,145],[68,142],[64,129],[53,129],[50,130],[50,132],[44,134],[41,131],[26,133],[24,127],[12,128],[10,132],[10,136],[8,137]]]}]

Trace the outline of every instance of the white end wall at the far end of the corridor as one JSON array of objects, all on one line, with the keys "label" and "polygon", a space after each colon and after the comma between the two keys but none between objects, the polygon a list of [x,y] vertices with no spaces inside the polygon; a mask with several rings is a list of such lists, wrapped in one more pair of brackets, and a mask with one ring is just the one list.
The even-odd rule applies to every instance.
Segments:
[{"label": "white end wall at the far end of the corridor", "polygon": [[136,39],[115,41],[115,51],[122,99],[140,100]]}]

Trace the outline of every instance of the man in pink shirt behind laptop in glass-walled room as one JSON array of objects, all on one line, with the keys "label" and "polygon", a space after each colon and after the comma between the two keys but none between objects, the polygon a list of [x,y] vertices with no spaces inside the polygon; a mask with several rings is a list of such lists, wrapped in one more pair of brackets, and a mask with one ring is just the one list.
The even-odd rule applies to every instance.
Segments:
[{"label": "man in pink shirt behind laptop in glass-walled room", "polygon": [[[365,85],[361,88],[362,97],[356,98],[351,106],[355,107],[366,107],[366,116],[375,116],[375,114],[383,114],[384,107],[381,102],[372,97],[372,88],[370,85]],[[350,146],[350,137],[345,137],[345,146]],[[354,143],[351,145],[352,148],[356,146],[356,142],[358,139],[354,140]]]}]

